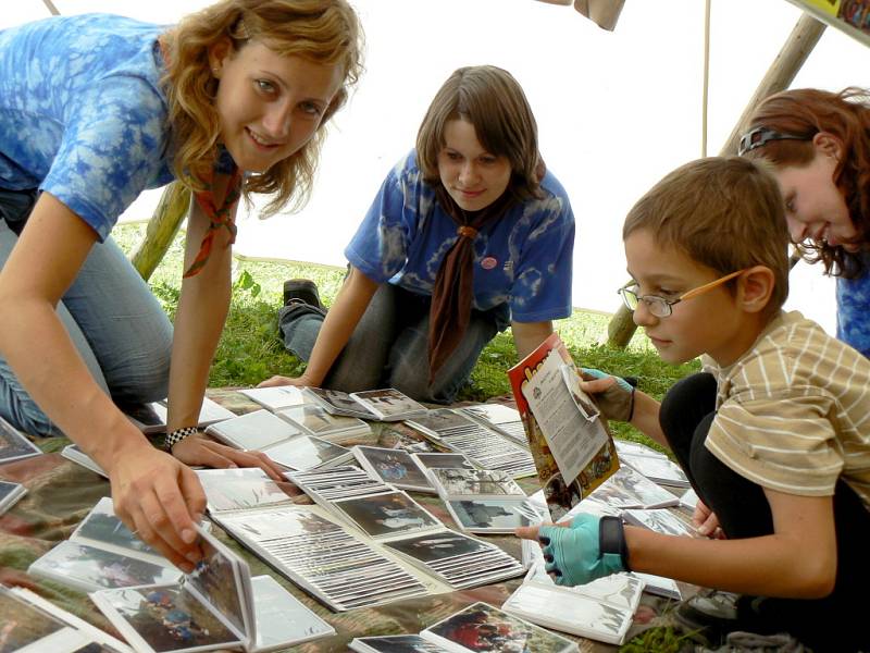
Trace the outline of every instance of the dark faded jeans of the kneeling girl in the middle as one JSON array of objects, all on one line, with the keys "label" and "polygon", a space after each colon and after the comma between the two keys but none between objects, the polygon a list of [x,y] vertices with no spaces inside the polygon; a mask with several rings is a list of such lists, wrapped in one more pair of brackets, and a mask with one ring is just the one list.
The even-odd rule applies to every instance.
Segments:
[{"label": "dark faded jeans of the kneeling girl in the middle", "polygon": [[[333,365],[323,387],[344,392],[395,387],[419,402],[450,404],[471,377],[483,348],[508,325],[508,308],[472,310],[462,342],[428,384],[428,311],[432,298],[382,284]],[[309,360],[325,312],[313,306],[281,309],[284,346]]]}]

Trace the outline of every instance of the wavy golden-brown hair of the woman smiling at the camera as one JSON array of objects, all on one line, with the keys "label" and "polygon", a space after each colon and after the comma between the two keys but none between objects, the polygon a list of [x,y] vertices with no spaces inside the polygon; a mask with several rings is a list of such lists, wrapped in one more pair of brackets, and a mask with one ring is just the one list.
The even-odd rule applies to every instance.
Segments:
[{"label": "wavy golden-brown hair of the woman smiling at the camera", "polygon": [[166,48],[163,85],[172,124],[173,170],[178,180],[200,189],[217,156],[220,118],[214,109],[217,81],[209,66],[209,47],[229,38],[234,50],[257,39],[282,56],[337,64],[344,84],[326,109],[314,136],[299,151],[262,174],[245,180],[250,193],[274,195],[269,215],[293,200],[304,204],[325,136],[327,120],[345,103],[348,88],[362,71],[362,34],[347,0],[221,0],[183,19],[161,37]]}]

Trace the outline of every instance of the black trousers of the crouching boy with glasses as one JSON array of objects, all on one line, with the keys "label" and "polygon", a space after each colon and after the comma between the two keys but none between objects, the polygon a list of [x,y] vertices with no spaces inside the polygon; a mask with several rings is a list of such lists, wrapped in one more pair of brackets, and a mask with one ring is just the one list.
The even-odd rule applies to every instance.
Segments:
[{"label": "black trousers of the crouching boy with glasses", "polygon": [[[763,488],[733,471],[705,446],[714,408],[712,374],[701,372],[675,383],[664,396],[659,414],[668,444],[729,539],[769,535],[773,533],[773,517]],[[861,648],[861,639],[867,639],[861,615],[866,609],[855,597],[866,592],[870,581],[870,512],[843,480],[836,484],[833,502],[837,546],[833,593],[824,599],[755,601],[751,618],[757,620],[759,630],[787,630],[813,651],[855,651]],[[738,601],[738,613],[743,614],[741,606],[748,604],[749,601]]]}]

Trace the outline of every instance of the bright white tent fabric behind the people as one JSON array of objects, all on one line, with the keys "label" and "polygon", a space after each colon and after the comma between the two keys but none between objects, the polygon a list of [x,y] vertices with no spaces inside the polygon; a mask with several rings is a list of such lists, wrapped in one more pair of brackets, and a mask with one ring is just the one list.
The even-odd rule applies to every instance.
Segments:
[{"label": "bright white tent fabric behind the people", "polygon": [[[52,0],[62,14],[124,13],[171,23],[207,0]],[[368,42],[366,73],[332,125],[310,204],[239,225],[247,256],[344,264],[343,249],[384,174],[413,144],[437,87],[460,65],[511,71],[535,111],[540,149],[577,218],[574,305],[613,311],[625,281],[620,231],[631,205],[700,155],[704,1],[633,2],[611,33],[570,7],[533,0],[351,0]],[[48,15],[42,0],[7,3],[0,28]],[[799,17],[783,0],[714,0],[709,151],[734,121]],[[828,29],[795,86],[867,84],[867,50]],[[146,194],[126,219],[150,215]],[[834,328],[833,284],[793,273],[790,308]]]}]

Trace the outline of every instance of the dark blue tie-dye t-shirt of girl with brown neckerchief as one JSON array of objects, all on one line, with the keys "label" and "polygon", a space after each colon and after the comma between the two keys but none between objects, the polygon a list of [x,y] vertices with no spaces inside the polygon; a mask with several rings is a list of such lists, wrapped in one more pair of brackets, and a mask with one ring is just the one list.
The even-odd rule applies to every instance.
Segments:
[{"label": "dark blue tie-dye t-shirt of girl with brown neckerchief", "polygon": [[[571,315],[574,214],[564,188],[549,172],[540,190],[540,199],[513,206],[474,239],[474,308],[506,305],[514,322]],[[411,151],[384,180],[345,256],[377,283],[389,281],[432,295],[442,260],[457,237],[456,223],[436,202]]]}]

